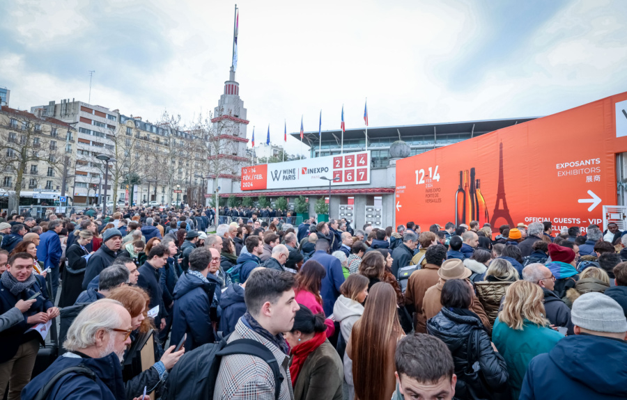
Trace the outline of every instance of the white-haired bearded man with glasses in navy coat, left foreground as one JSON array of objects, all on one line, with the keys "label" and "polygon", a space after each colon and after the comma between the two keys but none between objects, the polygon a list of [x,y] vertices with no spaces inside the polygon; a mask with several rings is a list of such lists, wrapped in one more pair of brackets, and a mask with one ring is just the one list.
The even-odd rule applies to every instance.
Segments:
[{"label": "white-haired bearded man with glasses in navy coat, left foreground", "polygon": [[88,305],[68,330],[68,352],[24,387],[22,399],[35,399],[49,386],[44,399],[125,399],[122,360],[131,332],[131,316],[120,302],[104,298]]}]

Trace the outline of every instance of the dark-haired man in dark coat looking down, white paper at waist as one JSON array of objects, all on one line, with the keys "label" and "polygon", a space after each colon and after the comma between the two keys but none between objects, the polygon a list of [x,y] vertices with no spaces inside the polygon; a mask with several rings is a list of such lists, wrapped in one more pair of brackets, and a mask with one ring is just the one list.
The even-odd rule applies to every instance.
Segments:
[{"label": "dark-haired man in dark coat looking down, white paper at waist", "polygon": [[148,259],[144,265],[140,266],[139,278],[137,278],[137,286],[146,290],[148,297],[150,297],[150,304],[148,305],[150,310],[159,306],[159,312],[155,317],[155,326],[158,329],[163,329],[166,326],[166,317],[168,312],[165,309],[163,303],[163,288],[160,284],[162,268],[168,262],[170,252],[166,246],[157,245],[153,246],[148,253]]}]

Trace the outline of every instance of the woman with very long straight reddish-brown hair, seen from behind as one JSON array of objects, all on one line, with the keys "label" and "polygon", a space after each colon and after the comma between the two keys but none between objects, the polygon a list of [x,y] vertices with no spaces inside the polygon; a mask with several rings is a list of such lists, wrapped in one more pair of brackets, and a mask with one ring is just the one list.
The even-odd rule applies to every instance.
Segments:
[{"label": "woman with very long straight reddish-brown hair, seen from behind", "polygon": [[[371,253],[383,258],[378,252]],[[356,400],[392,397],[396,387],[394,352],[403,336],[394,288],[386,282],[374,284],[369,290],[364,314],[355,322],[346,346],[348,358],[353,360]]]}]

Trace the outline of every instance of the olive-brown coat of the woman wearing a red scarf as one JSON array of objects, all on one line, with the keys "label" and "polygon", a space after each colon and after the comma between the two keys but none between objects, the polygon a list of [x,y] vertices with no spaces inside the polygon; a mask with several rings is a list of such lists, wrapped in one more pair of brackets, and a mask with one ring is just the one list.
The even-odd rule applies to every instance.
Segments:
[{"label": "olive-brown coat of the woman wearing a red scarf", "polygon": [[294,385],[295,400],[342,400],[342,360],[329,340],[307,356]]}]

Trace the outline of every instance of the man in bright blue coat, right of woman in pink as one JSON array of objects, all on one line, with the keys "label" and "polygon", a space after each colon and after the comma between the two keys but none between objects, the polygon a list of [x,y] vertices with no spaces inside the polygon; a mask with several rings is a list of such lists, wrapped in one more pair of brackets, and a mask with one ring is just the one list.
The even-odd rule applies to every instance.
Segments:
[{"label": "man in bright blue coat, right of woman in pink", "polygon": [[333,314],[333,306],[340,295],[339,287],[344,283],[342,264],[337,257],[329,254],[329,249],[329,241],[318,239],[316,252],[311,256],[311,259],[322,264],[327,271],[320,287],[320,296],[323,298],[323,308],[327,316]]}]

